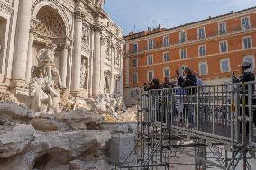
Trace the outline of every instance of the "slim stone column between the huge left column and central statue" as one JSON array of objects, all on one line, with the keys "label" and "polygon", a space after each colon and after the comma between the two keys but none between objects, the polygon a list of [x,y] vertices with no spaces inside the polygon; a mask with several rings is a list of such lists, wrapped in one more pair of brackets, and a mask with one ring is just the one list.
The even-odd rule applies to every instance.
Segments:
[{"label": "slim stone column between the huge left column and central statue", "polygon": [[26,68],[26,82],[29,83],[31,80],[31,69],[32,69],[32,46],[33,46],[33,32],[30,31],[30,40],[28,47],[28,58],[27,58],[27,68]]}]

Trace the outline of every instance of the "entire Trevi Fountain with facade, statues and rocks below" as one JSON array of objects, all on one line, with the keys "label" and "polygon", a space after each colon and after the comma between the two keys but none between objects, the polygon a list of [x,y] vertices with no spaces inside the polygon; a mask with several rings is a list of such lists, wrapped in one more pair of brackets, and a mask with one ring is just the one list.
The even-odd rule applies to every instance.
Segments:
[{"label": "entire Trevi Fountain with facade, statues and rocks below", "polygon": [[1,170],[108,170],[133,148],[122,29],[104,4],[0,0]]}]

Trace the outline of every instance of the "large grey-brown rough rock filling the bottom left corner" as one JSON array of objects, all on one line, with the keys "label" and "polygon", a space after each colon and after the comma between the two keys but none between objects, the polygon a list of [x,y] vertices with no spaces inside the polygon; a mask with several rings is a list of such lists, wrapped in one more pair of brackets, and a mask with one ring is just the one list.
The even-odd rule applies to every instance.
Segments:
[{"label": "large grey-brown rough rock filling the bottom left corner", "polygon": [[0,169],[68,170],[69,161],[105,148],[109,139],[106,130],[35,132],[32,126],[15,125],[0,136]]}]

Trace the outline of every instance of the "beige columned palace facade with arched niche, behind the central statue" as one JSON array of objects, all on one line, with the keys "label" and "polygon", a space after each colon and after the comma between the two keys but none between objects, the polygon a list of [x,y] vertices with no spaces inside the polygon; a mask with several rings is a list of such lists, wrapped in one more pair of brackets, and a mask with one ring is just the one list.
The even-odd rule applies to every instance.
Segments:
[{"label": "beige columned palace facade with arched niche, behind the central statue", "polygon": [[71,94],[123,93],[122,29],[104,0],[0,0],[0,86],[27,93],[42,49],[56,45],[54,64]]}]

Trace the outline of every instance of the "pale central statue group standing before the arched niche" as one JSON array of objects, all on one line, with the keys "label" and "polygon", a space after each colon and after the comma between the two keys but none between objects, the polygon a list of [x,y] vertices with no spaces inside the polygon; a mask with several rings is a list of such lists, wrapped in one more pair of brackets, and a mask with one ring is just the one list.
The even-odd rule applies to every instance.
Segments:
[{"label": "pale central statue group standing before the arched niche", "polygon": [[30,82],[31,109],[35,112],[60,112],[59,101],[62,81],[54,64],[55,44],[46,44],[36,58],[38,66],[32,67]]}]

